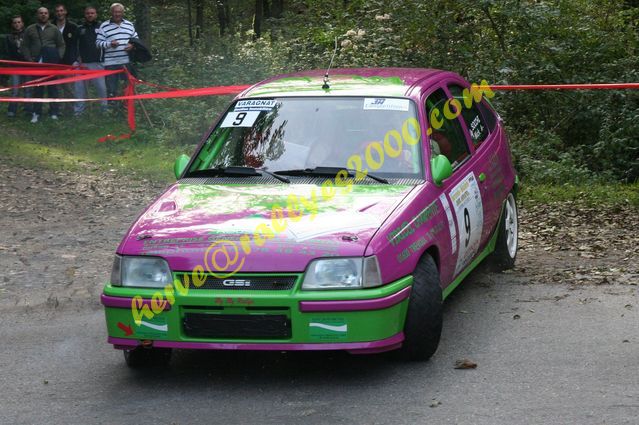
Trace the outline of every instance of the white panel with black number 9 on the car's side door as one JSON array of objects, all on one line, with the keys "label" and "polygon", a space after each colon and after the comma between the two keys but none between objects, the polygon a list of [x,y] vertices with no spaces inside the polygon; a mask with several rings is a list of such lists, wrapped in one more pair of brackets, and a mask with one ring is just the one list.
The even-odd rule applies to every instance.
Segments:
[{"label": "white panel with black number 9 on the car's side door", "polygon": [[455,265],[457,275],[479,249],[484,224],[484,210],[475,175],[468,174],[449,193],[459,229],[459,253]]}]

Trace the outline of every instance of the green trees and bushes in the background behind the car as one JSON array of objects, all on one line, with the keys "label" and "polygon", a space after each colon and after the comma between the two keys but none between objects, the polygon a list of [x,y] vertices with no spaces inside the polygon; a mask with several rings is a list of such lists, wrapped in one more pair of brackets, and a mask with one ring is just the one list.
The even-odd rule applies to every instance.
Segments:
[{"label": "green trees and bushes in the background behind the car", "polygon": [[[0,0],[0,18],[9,11],[34,10],[35,3]],[[84,4],[66,3],[70,11]],[[106,11],[109,2],[97,3]],[[216,28],[218,3],[230,11],[224,37]],[[337,38],[335,67],[440,68],[491,84],[639,82],[636,2],[288,0],[284,4],[281,18],[265,16],[263,36],[254,40],[255,2],[205,2],[202,37],[191,40],[185,2],[152,2],[154,61],[141,68],[141,77],[190,88],[247,84],[277,73],[324,69]],[[129,12],[127,16],[131,17]],[[228,101],[228,97],[207,97],[145,102],[153,127],[139,114],[140,134],[167,145],[193,144]],[[493,103],[508,125],[525,180],[639,179],[636,91],[499,92]]]}]

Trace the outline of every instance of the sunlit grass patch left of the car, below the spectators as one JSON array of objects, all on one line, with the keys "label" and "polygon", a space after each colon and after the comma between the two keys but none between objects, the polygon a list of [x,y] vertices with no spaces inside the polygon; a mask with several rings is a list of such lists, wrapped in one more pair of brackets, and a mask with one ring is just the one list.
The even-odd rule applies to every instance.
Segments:
[{"label": "sunlit grass patch left of the car, below the spectators", "polygon": [[157,130],[142,129],[130,139],[98,139],[112,134],[128,133],[123,117],[105,117],[88,113],[76,119],[61,117],[58,121],[42,118],[29,123],[26,115],[8,119],[0,117],[0,157],[26,167],[78,172],[113,171],[122,176],[169,182],[173,176],[173,162],[181,153],[192,154],[192,144],[180,141],[167,145],[157,142]]}]

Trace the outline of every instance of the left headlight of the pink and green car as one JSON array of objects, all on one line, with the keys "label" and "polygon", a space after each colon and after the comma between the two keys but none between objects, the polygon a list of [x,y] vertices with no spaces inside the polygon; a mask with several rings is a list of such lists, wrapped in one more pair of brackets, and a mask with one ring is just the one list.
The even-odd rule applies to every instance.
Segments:
[{"label": "left headlight of the pink and green car", "polygon": [[112,285],[162,288],[170,283],[171,269],[162,258],[115,256]]}]

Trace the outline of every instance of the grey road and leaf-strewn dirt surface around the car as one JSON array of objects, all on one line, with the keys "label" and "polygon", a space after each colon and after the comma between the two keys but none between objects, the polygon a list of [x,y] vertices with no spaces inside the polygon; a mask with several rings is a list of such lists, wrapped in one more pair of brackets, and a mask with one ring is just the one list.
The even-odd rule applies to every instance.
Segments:
[{"label": "grey road and leaf-strewn dirt surface around the car", "polygon": [[[521,250],[447,301],[427,363],[318,353],[178,353],[128,370],[98,297],[162,190],[115,172],[0,164],[0,423],[636,423],[639,214],[521,205]],[[474,370],[456,370],[471,358]]]}]

